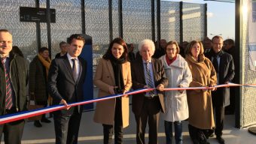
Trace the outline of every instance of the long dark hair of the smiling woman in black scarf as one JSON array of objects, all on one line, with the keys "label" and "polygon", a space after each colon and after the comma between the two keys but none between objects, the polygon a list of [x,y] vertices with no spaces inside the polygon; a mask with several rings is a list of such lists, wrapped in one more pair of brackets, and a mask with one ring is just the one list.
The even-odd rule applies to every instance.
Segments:
[{"label": "long dark hair of the smiling woman in black scarf", "polygon": [[123,55],[121,55],[120,58],[124,58],[125,61],[127,61],[128,49],[127,49],[125,41],[121,37],[114,38],[114,40],[111,41],[111,43],[108,46],[107,52],[105,52],[105,54],[103,55],[103,58],[104,59],[110,59],[110,57],[112,55],[111,49],[112,49],[112,46],[114,45],[114,43],[118,43],[121,46],[123,46]]}]

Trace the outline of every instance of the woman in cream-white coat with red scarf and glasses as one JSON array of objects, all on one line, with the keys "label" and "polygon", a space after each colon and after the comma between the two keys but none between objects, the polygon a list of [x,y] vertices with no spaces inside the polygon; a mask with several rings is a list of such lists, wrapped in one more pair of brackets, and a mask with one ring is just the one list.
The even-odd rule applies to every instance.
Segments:
[{"label": "woman in cream-white coat with red scarf and glasses", "polygon": [[[169,41],[166,55],[160,57],[164,71],[168,78],[168,88],[188,87],[192,81],[192,74],[187,62],[181,55],[176,41]],[[188,118],[186,91],[165,92],[166,113],[163,113],[166,133],[166,144],[172,143],[172,123],[175,129],[175,143],[182,143],[182,121]]]}]

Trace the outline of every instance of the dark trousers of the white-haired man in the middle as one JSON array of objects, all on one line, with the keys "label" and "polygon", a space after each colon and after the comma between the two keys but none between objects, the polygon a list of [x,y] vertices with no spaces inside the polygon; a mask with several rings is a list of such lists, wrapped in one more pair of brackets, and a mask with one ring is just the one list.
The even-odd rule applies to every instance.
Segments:
[{"label": "dark trousers of the white-haired man in the middle", "polygon": [[158,122],[160,117],[161,104],[158,97],[145,98],[140,115],[136,118],[136,142],[145,144],[145,128],[148,123],[148,144],[157,144]]}]

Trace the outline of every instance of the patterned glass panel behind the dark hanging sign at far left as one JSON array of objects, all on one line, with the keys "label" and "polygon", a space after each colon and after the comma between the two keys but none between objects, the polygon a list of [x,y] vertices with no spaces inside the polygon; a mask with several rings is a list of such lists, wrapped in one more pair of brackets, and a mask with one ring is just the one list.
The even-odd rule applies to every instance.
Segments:
[{"label": "patterned glass panel behind the dark hanging sign at far left", "polygon": [[25,58],[31,61],[37,52],[35,23],[20,22],[20,7],[35,7],[35,1],[1,1],[1,28],[11,31],[13,45],[20,47]]}]

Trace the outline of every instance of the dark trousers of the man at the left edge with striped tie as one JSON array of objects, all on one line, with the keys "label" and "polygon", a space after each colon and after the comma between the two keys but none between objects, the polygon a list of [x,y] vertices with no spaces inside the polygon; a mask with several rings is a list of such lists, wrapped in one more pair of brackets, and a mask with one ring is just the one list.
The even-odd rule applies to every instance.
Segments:
[{"label": "dark trousers of the man at the left edge with striped tie", "polygon": [[[15,110],[8,110],[5,114],[17,113]],[[4,133],[5,144],[20,144],[23,136],[25,121],[13,121],[6,124],[0,124],[0,141]]]}]

